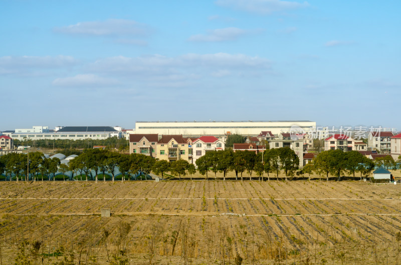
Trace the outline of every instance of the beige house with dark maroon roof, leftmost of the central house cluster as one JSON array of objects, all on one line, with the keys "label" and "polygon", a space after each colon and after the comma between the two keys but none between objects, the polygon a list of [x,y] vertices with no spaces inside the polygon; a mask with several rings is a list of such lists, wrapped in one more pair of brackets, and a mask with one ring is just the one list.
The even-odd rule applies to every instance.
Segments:
[{"label": "beige house with dark maroon roof, leftmost of the central house cluster", "polygon": [[129,153],[156,156],[157,134],[129,134]]}]

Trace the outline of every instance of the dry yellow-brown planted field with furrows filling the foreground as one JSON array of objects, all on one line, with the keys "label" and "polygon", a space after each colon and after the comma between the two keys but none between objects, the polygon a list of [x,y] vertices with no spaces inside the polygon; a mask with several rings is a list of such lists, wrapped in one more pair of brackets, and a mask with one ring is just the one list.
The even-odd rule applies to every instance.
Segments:
[{"label": "dry yellow-brown planted field with furrows filling the foreground", "polygon": [[[236,264],[237,256],[242,264],[395,264],[401,259],[400,184],[262,182],[256,176],[215,181],[213,173],[208,181],[188,177],[1,182],[1,264],[24,259]],[[101,217],[102,208],[110,208],[111,217]]]}]

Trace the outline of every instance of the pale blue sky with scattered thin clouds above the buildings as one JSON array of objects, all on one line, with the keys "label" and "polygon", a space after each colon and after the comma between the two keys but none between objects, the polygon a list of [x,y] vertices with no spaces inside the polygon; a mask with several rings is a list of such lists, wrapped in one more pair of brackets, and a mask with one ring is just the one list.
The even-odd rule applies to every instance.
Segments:
[{"label": "pale blue sky with scattered thin clouds above the buildings", "polygon": [[209,119],[401,129],[398,0],[0,6],[0,130]]}]

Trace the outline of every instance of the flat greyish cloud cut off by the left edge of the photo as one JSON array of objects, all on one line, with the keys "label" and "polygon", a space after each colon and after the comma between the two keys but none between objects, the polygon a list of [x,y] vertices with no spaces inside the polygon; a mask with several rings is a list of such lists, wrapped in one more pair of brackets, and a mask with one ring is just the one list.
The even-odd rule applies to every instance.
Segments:
[{"label": "flat greyish cloud cut off by the left edge of the photo", "polygon": [[3,56],[0,57],[0,74],[30,75],[43,68],[63,68],[77,64],[72,56]]}]

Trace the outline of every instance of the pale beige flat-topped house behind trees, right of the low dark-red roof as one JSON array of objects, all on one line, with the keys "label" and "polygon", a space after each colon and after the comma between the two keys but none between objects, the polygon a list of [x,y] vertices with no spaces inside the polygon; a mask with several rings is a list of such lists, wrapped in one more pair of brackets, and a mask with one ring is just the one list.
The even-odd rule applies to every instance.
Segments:
[{"label": "pale beige flat-topped house behind trees, right of the low dark-red roof", "polygon": [[304,163],[303,143],[303,135],[282,132],[279,134],[278,138],[270,141],[270,149],[280,147],[293,149],[295,154],[299,157],[299,166],[302,167]]}]

